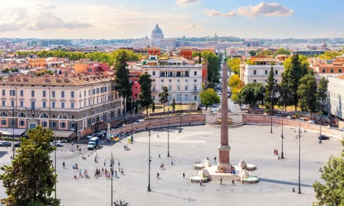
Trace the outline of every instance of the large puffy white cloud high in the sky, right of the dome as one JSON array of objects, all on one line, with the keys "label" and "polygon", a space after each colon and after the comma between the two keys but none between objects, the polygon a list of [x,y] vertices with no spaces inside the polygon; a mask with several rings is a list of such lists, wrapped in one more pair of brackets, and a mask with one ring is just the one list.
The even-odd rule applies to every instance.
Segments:
[{"label": "large puffy white cloud high in the sky, right of the dome", "polygon": [[261,2],[258,5],[248,5],[246,7],[239,7],[237,10],[232,10],[222,16],[288,16],[294,14],[293,10],[286,8],[281,3],[265,3]]}]

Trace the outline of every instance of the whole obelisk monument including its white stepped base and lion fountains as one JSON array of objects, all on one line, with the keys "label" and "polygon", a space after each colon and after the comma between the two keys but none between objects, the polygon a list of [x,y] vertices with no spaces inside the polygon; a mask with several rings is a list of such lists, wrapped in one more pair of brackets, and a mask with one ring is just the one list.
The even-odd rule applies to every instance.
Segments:
[{"label": "whole obelisk monument including its white stepped base and lion fountains", "polygon": [[222,179],[222,181],[232,181],[234,179],[234,181],[242,181],[243,183],[257,183],[259,179],[255,176],[250,176],[250,172],[248,172],[248,170],[255,170],[255,165],[247,164],[244,159],[239,162],[238,166],[230,164],[230,146],[228,144],[228,97],[227,87],[225,87],[225,85],[228,85],[228,81],[226,73],[227,62],[225,57],[222,66],[224,78],[222,78],[221,142],[218,146],[219,161],[217,165],[214,166],[206,160],[203,163],[196,162],[193,168],[202,170],[199,172],[198,176],[191,176],[190,181],[199,182],[200,179],[203,181],[208,181],[209,179],[213,181],[219,181],[219,179]]}]

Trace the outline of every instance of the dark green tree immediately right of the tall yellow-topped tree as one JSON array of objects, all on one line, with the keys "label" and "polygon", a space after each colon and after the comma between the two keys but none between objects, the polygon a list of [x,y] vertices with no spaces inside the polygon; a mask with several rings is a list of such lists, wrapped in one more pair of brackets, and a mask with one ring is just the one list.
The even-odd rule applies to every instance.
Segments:
[{"label": "dark green tree immediately right of the tall yellow-topped tree", "polygon": [[310,118],[316,106],[316,79],[313,70],[300,80],[297,95],[299,95],[299,107],[302,111],[309,110]]}]

